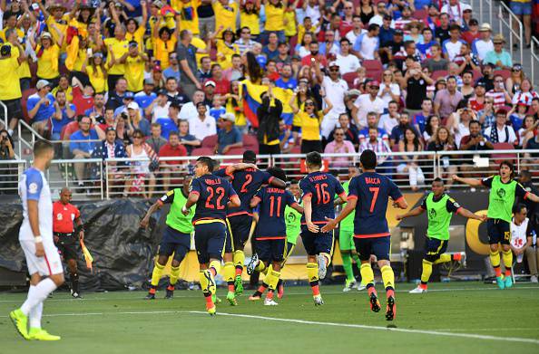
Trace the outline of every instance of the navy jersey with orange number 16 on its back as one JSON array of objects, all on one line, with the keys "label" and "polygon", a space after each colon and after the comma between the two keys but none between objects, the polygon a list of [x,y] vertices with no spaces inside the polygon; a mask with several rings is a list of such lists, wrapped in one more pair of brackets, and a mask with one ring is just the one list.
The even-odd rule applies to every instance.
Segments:
[{"label": "navy jersey with orange number 16 on its back", "polygon": [[[325,172],[309,173],[299,181],[303,198],[311,197],[313,224],[326,224],[326,217],[335,218],[335,196],[346,196],[337,178]],[[301,216],[301,224],[305,224],[305,215]]]}]

